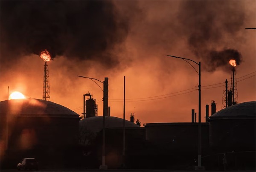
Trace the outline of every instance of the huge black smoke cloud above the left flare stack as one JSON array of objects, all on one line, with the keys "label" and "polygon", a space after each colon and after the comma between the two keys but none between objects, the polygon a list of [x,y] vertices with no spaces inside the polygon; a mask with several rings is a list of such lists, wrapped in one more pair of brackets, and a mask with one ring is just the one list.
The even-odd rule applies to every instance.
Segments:
[{"label": "huge black smoke cloud above the left flare stack", "polygon": [[111,67],[128,23],[111,1],[1,1],[1,61],[47,49],[52,58],[92,59]]}]

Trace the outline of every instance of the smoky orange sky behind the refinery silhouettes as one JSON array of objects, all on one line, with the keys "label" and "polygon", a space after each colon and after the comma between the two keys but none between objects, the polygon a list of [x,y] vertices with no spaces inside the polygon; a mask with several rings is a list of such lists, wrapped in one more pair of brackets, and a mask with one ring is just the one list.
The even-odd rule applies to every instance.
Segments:
[{"label": "smoky orange sky behind the refinery silhouettes", "polygon": [[[50,101],[83,113],[90,92],[103,113],[108,77],[111,116],[142,124],[201,121],[222,109],[235,59],[238,102],[256,101],[255,0],[0,1],[0,101],[14,91],[42,99],[47,49]],[[183,57],[192,61],[173,58]],[[188,63],[189,62],[189,63]],[[195,71],[196,70],[196,71]],[[125,89],[124,89],[125,76]],[[100,87],[101,88],[100,88]]]}]

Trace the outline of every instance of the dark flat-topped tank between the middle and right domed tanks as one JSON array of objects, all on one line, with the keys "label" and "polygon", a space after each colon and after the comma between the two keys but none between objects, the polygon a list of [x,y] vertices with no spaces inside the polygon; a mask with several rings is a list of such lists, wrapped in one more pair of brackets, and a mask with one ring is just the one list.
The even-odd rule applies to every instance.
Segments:
[{"label": "dark flat-topped tank between the middle and right domed tanks", "polygon": [[[194,169],[198,156],[199,123],[144,124],[145,139],[150,143],[154,168]],[[202,155],[209,154],[209,123],[201,123]],[[153,162],[152,162],[153,163]]]}]

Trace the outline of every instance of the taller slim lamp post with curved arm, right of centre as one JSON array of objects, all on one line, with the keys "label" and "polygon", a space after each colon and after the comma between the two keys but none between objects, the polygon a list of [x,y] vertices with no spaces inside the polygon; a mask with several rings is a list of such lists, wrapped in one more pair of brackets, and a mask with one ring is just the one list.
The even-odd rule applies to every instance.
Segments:
[{"label": "taller slim lamp post with curved arm, right of centre", "polygon": [[[171,56],[171,55],[167,55],[167,56]],[[202,156],[202,153],[201,153],[201,149],[202,149],[202,145],[201,145],[201,140],[202,140],[202,138],[201,138],[202,137],[202,135],[201,135],[201,133],[202,133],[201,132],[201,62],[197,63],[194,60],[183,58],[183,57],[177,57],[177,56],[171,56],[171,57],[183,59],[184,61],[189,60],[189,61],[197,64],[199,67],[198,71],[197,70],[195,70],[195,71],[198,73],[198,76],[199,76],[199,83],[198,83],[198,168],[201,168],[201,156]],[[191,65],[191,64],[189,63],[189,65]],[[194,67],[192,66],[192,68],[194,68]]]}]

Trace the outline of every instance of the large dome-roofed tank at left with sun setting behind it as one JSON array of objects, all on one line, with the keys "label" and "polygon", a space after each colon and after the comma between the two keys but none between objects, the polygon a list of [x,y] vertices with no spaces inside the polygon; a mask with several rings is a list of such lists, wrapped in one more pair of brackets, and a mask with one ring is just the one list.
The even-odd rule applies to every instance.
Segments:
[{"label": "large dome-roofed tank at left with sun setting behind it", "polygon": [[67,107],[40,99],[6,100],[0,107],[1,167],[24,157],[61,166],[60,157],[78,142],[80,118]]}]

